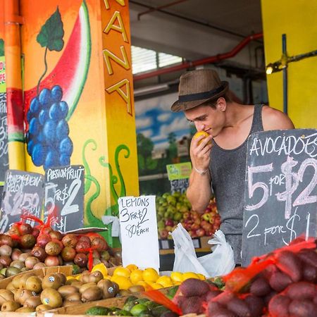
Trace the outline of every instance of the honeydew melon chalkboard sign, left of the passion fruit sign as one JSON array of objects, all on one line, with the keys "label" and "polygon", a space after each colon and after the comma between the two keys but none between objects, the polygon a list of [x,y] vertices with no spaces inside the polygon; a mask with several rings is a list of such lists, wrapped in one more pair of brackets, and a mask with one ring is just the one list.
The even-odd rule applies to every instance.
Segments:
[{"label": "honeydew melon chalkboard sign, left of the passion fruit sign", "polygon": [[[44,176],[23,170],[7,170],[1,201],[0,231],[20,221],[22,214],[41,218],[44,198]],[[28,221],[33,225],[32,221]]]}]

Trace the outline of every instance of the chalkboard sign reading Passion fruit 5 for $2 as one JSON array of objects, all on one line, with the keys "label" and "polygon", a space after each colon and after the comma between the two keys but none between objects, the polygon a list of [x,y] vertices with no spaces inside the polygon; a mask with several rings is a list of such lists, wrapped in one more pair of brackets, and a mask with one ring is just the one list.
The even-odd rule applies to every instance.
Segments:
[{"label": "chalkboard sign reading Passion fruit 5 for $2", "polygon": [[66,232],[84,226],[84,174],[81,165],[46,170],[44,223],[52,213],[54,230]]}]

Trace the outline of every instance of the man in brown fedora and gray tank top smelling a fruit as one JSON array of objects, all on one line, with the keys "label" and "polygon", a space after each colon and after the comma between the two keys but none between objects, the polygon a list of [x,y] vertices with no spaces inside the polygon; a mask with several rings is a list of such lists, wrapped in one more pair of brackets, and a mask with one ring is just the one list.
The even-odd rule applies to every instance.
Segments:
[{"label": "man in brown fedora and gray tank top smelling a fruit", "polygon": [[184,111],[198,131],[208,133],[190,144],[192,173],[187,198],[195,211],[204,212],[216,197],[225,233],[241,263],[244,182],[247,138],[253,132],[293,129],[285,113],[263,105],[243,105],[230,99],[228,82],[221,82],[215,70],[193,70],[180,77],[179,99],[173,112]]}]

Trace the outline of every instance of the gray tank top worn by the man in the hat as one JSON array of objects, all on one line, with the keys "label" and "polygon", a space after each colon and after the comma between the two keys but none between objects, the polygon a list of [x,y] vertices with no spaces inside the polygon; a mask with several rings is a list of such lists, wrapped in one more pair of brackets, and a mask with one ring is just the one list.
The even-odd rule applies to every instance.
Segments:
[{"label": "gray tank top worn by the man in the hat", "polygon": [[[249,135],[263,131],[262,107],[254,106]],[[211,183],[221,217],[220,230],[225,234],[235,254],[235,263],[241,263],[244,185],[247,161],[247,139],[236,149],[222,149],[213,141],[211,149]]]}]

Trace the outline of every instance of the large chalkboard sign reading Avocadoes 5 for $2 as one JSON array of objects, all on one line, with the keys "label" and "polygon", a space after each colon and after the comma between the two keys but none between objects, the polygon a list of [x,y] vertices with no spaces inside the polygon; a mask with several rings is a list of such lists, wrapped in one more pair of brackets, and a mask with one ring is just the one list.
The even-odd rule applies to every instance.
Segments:
[{"label": "large chalkboard sign reading Avocadoes 5 for $2", "polygon": [[316,237],[317,130],[256,132],[248,139],[242,266],[253,256]]}]

